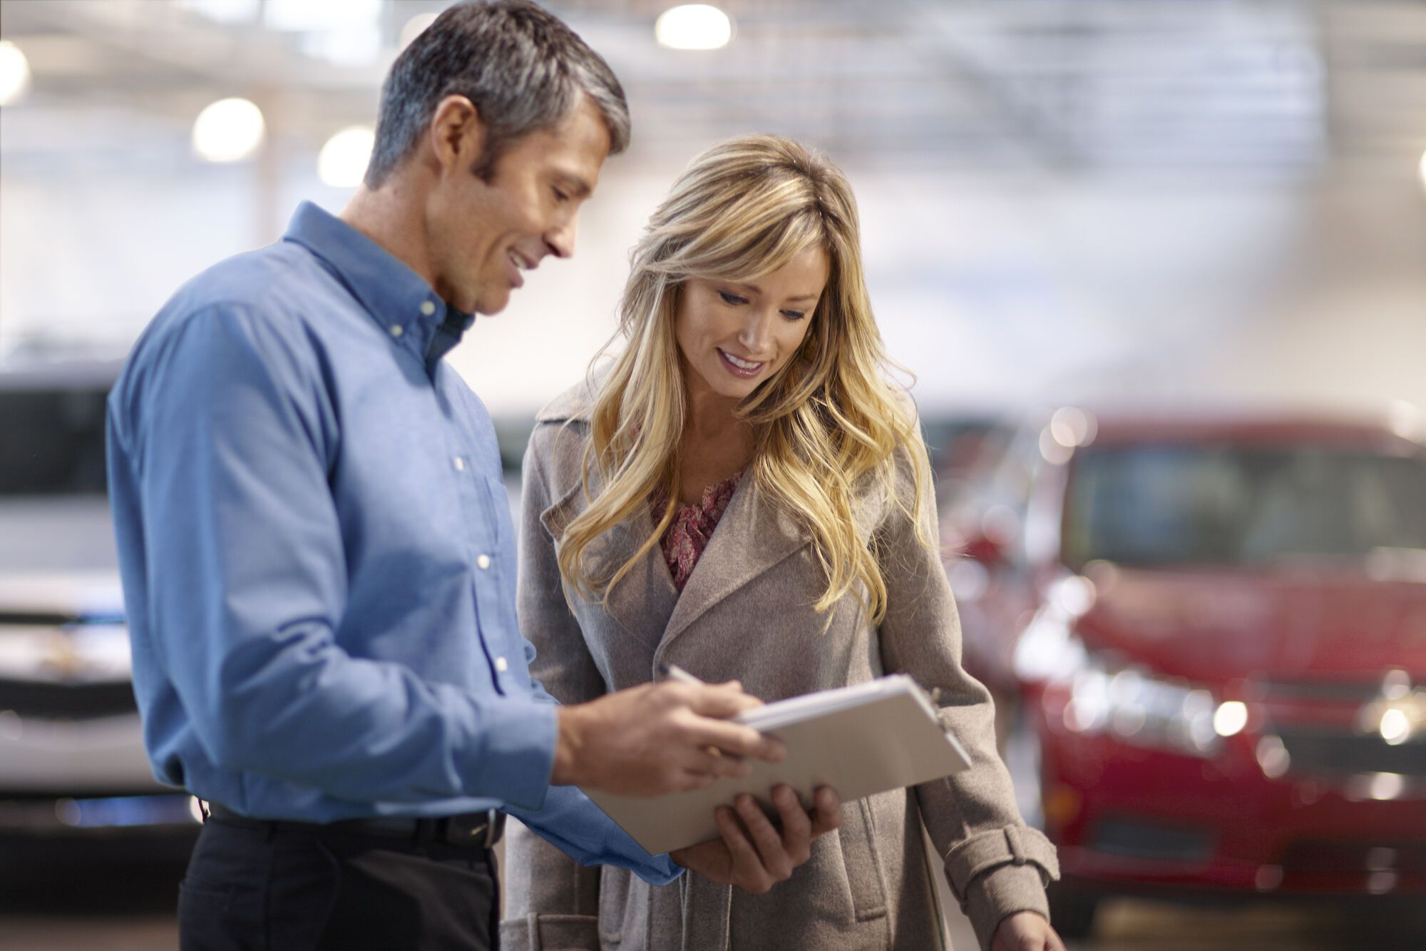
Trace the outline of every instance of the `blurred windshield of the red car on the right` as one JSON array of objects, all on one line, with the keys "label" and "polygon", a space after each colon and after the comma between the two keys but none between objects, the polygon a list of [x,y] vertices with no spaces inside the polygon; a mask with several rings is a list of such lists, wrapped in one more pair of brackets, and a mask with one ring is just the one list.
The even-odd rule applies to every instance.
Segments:
[{"label": "blurred windshield of the red car on the right", "polygon": [[1271,564],[1426,550],[1426,457],[1309,446],[1105,446],[1071,474],[1071,567]]}]

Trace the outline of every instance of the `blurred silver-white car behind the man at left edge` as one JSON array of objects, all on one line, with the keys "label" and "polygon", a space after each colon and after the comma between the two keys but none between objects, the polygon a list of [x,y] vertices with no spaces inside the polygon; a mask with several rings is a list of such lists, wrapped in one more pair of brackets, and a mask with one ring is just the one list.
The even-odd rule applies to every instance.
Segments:
[{"label": "blurred silver-white car behind the man at left edge", "polygon": [[117,360],[0,358],[0,837],[191,847],[153,778],[130,684],[104,476]]}]

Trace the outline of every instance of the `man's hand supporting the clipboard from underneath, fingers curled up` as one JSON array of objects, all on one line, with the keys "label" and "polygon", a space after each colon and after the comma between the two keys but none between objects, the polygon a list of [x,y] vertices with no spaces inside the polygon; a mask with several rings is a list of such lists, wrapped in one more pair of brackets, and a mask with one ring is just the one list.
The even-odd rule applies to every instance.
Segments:
[{"label": "man's hand supporting the clipboard from underneath, fingers curled up", "polygon": [[777,882],[791,878],[793,870],[811,857],[811,840],[841,825],[841,800],[831,788],[819,788],[813,801],[816,812],[807,815],[791,787],[774,788],[773,804],[783,820],[779,832],[763,815],[761,807],[744,792],[734,802],[737,818],[726,805],[717,810],[723,838],[680,848],[669,857],[720,885],[766,894]]}]

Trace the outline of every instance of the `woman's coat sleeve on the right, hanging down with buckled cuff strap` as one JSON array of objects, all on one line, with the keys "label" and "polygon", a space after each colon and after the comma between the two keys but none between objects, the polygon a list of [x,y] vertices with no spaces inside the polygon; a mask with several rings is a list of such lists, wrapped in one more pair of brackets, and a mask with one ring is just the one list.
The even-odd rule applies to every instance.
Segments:
[{"label": "woman's coat sleeve on the right, hanging down with buckled cuff strap", "polygon": [[[927,480],[930,483],[930,480]],[[897,494],[914,498],[910,457],[898,453]],[[990,691],[961,667],[961,628],[940,558],[935,498],[921,493],[921,530],[888,503],[877,530],[878,563],[887,585],[880,627],[887,673],[910,674],[940,688],[941,725],[965,747],[971,768],[915,787],[931,841],[945,861],[945,877],[961,910],[988,948],[995,927],[1017,911],[1050,917],[1045,884],[1060,877],[1054,845],[1025,825],[1015,807],[1010,773],[995,750],[995,708]]]}]

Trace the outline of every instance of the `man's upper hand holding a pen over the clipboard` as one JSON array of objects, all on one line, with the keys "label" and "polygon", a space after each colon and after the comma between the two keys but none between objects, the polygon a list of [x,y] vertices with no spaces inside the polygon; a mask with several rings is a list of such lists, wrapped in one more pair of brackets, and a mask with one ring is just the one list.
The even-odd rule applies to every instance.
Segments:
[{"label": "man's upper hand holding a pen over the clipboard", "polygon": [[744,777],[744,757],[773,763],[783,744],[752,727],[727,723],[761,701],[737,681],[663,681],[559,707],[559,741],[550,783],[626,795],[662,795]]}]

